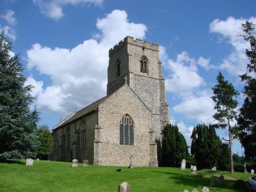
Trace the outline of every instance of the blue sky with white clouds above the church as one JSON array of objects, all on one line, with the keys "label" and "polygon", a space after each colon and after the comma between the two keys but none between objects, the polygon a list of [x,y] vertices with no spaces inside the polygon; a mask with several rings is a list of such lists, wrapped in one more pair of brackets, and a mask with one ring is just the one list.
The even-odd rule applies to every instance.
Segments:
[{"label": "blue sky with white clouds above the church", "polygon": [[[125,36],[160,46],[170,122],[191,144],[197,123],[215,123],[211,88],[221,72],[241,92],[256,1],[2,0],[0,31],[19,54],[34,105],[50,129],[106,95],[108,50]],[[239,106],[243,95],[238,97]],[[234,124],[235,122],[233,122]],[[226,130],[217,130],[228,138]],[[243,154],[239,141],[233,153]]]}]

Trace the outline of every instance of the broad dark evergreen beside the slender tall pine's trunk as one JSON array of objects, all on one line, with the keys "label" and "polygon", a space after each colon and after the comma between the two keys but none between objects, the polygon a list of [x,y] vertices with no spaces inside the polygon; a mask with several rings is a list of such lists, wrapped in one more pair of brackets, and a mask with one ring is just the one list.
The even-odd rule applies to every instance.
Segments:
[{"label": "broad dark evergreen beside the slender tall pine's trunk", "polygon": [[191,134],[191,155],[195,156],[199,169],[217,166],[223,169],[224,157],[229,153],[222,150],[219,136],[217,136],[214,126],[198,124]]}]

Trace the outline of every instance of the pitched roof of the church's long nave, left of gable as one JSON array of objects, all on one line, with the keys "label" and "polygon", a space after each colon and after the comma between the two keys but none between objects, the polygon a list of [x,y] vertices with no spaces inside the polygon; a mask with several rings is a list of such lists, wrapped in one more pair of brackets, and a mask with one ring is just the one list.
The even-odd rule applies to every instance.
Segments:
[{"label": "pitched roof of the church's long nave, left of gable", "polygon": [[58,127],[60,126],[63,126],[63,125],[67,125],[68,123],[84,116],[84,115],[87,115],[88,113],[91,113],[93,111],[97,111],[98,110],[98,105],[100,103],[102,103],[104,100],[106,100],[107,98],[109,98],[112,94],[110,95],[107,95],[105,97],[102,97],[101,99],[93,102],[92,104],[89,104],[88,106],[86,106],[85,108],[81,109],[80,111],[78,112],[73,112],[72,114],[70,114],[66,119],[64,119],[63,121],[61,121],[60,123],[58,123],[57,125],[55,125],[53,127],[53,130],[57,129]]}]

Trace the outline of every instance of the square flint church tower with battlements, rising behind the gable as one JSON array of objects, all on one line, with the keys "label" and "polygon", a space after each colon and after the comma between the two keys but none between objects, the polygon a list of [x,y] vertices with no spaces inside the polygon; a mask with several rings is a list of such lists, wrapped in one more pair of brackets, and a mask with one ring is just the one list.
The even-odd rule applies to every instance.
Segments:
[{"label": "square flint church tower with battlements, rising behind the gable", "polygon": [[[159,46],[127,36],[109,51],[107,95],[127,84],[152,111],[152,131],[161,154],[161,130],[169,122]],[[159,154],[160,153],[160,154]]]}]

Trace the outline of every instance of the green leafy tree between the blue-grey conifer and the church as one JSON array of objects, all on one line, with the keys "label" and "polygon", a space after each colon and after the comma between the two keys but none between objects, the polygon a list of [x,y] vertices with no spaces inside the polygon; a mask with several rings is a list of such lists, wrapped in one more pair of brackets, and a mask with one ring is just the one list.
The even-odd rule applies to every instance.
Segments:
[{"label": "green leafy tree between the blue-grey conifer and the church", "polygon": [[46,124],[38,126],[35,130],[37,135],[38,146],[35,151],[36,158],[47,160],[52,152],[53,137]]}]

